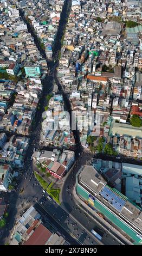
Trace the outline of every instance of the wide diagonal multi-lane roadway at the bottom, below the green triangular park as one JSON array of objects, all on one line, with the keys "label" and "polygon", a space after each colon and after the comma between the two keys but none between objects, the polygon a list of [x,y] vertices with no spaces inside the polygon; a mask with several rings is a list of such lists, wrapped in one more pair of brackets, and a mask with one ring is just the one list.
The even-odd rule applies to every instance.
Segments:
[{"label": "wide diagonal multi-lane roadway at the bottom, below the green triangular park", "polygon": [[[42,200],[42,199],[41,199]],[[66,211],[64,211],[61,206],[55,202],[46,201],[45,204],[42,204],[42,207],[48,211],[51,216],[53,216],[62,227],[66,228],[69,233],[72,233],[76,236],[77,239],[83,245],[96,245],[96,241],[93,236],[90,236],[85,229],[83,229],[78,222],[75,222]],[[60,216],[60,217],[59,217]]]}]

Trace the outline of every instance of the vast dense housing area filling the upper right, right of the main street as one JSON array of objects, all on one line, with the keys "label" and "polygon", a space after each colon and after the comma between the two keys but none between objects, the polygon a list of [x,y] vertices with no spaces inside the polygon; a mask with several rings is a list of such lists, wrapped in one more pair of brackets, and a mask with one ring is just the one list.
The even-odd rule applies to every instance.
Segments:
[{"label": "vast dense housing area filling the upper right, right of the main street", "polygon": [[[139,2],[72,1],[57,72],[78,120],[80,116],[82,121],[83,112],[87,117],[90,111],[94,113],[94,125],[100,125],[100,136],[105,138],[103,148],[109,143],[118,154],[133,157],[142,153],[142,135],[130,120],[142,115]],[[80,139],[88,148],[91,130],[89,121],[85,124],[79,129]],[[121,135],[121,128],[112,132],[112,127],[125,125]],[[131,128],[134,135],[129,133]]]}]

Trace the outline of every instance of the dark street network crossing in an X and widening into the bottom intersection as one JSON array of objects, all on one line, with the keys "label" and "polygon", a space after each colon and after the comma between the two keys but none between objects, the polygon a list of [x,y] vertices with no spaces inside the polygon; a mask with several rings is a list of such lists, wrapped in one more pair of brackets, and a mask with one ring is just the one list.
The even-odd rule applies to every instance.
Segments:
[{"label": "dark street network crossing in an X and widening into the bottom intersection", "polygon": [[[70,124],[72,124],[72,110],[70,106],[70,101],[68,95],[64,92],[62,84],[57,78],[57,66],[59,66],[59,52],[61,50],[61,40],[63,36],[64,28],[66,27],[68,13],[70,10],[70,4],[72,1],[66,0],[63,11],[61,14],[61,20],[59,29],[56,35],[56,40],[53,50],[53,59],[49,61],[46,57],[46,52],[41,48],[37,35],[34,33],[33,29],[27,23],[24,17],[24,12],[20,10],[20,15],[24,22],[27,23],[28,31],[34,37],[35,44],[40,51],[43,59],[47,61],[49,73],[42,82],[43,92],[41,99],[39,101],[39,107],[36,112],[34,124],[30,132],[30,141],[27,153],[25,155],[24,166],[21,169],[21,174],[18,181],[18,186],[14,192],[1,192],[0,197],[3,197],[5,203],[8,204],[9,216],[7,218],[7,225],[2,230],[0,234],[0,245],[4,245],[10,239],[11,230],[14,227],[15,221],[20,217],[29,205],[33,205],[37,211],[39,211],[43,217],[43,223],[50,221],[54,225],[56,230],[66,237],[67,241],[72,245],[120,245],[124,241],[116,235],[111,233],[111,230],[106,231],[104,223],[101,223],[99,218],[92,217],[92,215],[81,208],[80,203],[73,196],[73,189],[75,186],[76,173],[83,164],[88,164],[92,158],[91,153],[83,152],[82,145],[80,142],[79,131],[74,130],[74,138],[76,147],[74,148],[76,162],[74,167],[69,171],[69,173],[63,178],[63,186],[60,193],[61,205],[57,204],[53,199],[50,201],[47,199],[47,193],[43,193],[43,188],[40,186],[39,182],[34,176],[34,164],[32,161],[32,155],[35,150],[51,150],[51,147],[41,147],[40,145],[40,134],[42,130],[42,113],[44,112],[44,107],[47,105],[47,95],[53,92],[53,85],[56,82],[59,92],[62,93],[64,99],[65,108],[70,114]],[[55,62],[54,62],[55,60]],[[96,158],[101,158],[104,160],[115,160],[116,157],[106,156],[104,154],[95,155]],[[140,164],[141,162],[132,159],[119,159],[118,162],[124,161],[128,163]],[[101,225],[100,225],[101,224]],[[104,226],[103,226],[104,225]],[[91,233],[91,230],[98,230],[101,234],[102,240],[99,241]],[[120,239],[119,240],[117,240]]]}]

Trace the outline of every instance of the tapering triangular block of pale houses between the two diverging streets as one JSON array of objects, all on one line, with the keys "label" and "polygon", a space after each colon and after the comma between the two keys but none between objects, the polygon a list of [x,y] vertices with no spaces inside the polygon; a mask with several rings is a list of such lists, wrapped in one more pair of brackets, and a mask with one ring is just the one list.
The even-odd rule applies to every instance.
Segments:
[{"label": "tapering triangular block of pale houses between the two diverging streets", "polygon": [[70,117],[64,111],[63,96],[55,94],[48,102],[48,110],[43,113],[41,144],[71,148],[75,144],[70,130]]}]

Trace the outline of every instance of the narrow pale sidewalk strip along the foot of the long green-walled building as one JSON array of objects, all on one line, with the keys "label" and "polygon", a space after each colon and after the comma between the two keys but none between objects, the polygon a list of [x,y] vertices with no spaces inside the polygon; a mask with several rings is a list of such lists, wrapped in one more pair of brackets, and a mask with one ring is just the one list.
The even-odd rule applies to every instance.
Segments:
[{"label": "narrow pale sidewalk strip along the foot of the long green-walled building", "polygon": [[[93,209],[91,209],[86,203],[84,203],[79,197],[78,197],[78,194],[76,194],[76,190],[75,190],[75,187],[73,189],[73,196],[74,198],[81,204],[83,205],[85,208],[86,208],[86,211],[88,212],[91,212],[93,215],[94,215],[94,218],[97,217],[100,222],[99,225],[101,225],[101,222],[103,222],[105,225],[107,225],[108,229],[104,228],[104,226],[102,226],[103,229],[105,229],[106,231],[108,231],[109,233],[111,233],[111,231],[109,230],[113,230],[114,233],[116,233],[117,235],[121,236],[123,240],[125,240],[129,245],[133,245],[132,242],[130,242],[126,237],[122,236],[121,233],[119,233],[119,231],[117,229],[115,229],[114,227],[112,227],[111,224],[109,224],[107,221],[104,220],[104,218],[101,218]],[[90,215],[91,216],[91,215]],[[92,216],[91,216],[92,217]],[[111,235],[113,235],[111,233]],[[114,236],[114,235],[113,235]],[[114,236],[115,237],[115,236]],[[117,239],[117,237],[115,237],[115,239]],[[117,239],[118,241],[120,241],[119,239]],[[121,242],[121,241],[120,241]],[[121,242],[122,243],[122,242]]]}]

